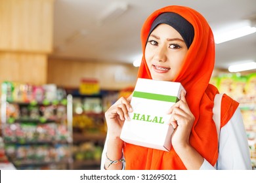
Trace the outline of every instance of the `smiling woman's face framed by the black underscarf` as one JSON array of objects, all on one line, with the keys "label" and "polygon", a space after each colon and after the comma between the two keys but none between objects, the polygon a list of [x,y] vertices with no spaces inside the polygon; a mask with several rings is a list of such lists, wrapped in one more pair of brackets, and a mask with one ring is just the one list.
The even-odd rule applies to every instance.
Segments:
[{"label": "smiling woman's face framed by the black underscarf", "polygon": [[173,27],[160,24],[146,43],[145,59],[152,79],[172,81],[179,73],[188,48]]}]

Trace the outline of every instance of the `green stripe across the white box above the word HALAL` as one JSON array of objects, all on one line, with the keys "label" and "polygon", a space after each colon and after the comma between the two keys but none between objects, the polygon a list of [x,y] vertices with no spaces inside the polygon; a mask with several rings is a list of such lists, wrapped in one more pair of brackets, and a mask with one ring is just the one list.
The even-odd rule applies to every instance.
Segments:
[{"label": "green stripe across the white box above the word HALAL", "polygon": [[178,97],[170,96],[170,95],[161,95],[156,93],[146,93],[146,92],[133,92],[133,97],[138,97],[142,99],[152,99],[156,101],[165,101],[171,103],[177,103],[179,101]]}]

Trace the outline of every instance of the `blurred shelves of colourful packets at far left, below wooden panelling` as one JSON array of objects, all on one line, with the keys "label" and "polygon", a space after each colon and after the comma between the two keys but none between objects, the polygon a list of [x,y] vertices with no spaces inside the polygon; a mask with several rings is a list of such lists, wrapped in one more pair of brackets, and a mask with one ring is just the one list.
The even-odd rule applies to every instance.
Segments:
[{"label": "blurred shelves of colourful packets at far left, below wooden panelling", "polygon": [[54,84],[18,82],[3,82],[1,94],[3,141],[15,167],[72,169],[72,96]]}]

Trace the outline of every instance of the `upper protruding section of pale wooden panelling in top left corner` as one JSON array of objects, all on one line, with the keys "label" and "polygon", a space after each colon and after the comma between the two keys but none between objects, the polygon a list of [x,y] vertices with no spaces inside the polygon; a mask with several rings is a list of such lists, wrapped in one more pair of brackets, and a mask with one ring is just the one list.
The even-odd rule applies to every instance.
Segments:
[{"label": "upper protruding section of pale wooden panelling in top left corner", "polygon": [[49,53],[54,0],[0,0],[0,50]]}]

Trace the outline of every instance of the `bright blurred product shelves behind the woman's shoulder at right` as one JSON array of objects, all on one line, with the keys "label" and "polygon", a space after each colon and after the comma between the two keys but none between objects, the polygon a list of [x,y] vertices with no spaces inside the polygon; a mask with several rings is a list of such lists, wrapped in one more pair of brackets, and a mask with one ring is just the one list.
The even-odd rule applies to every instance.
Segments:
[{"label": "bright blurred product shelves behind the woman's shoulder at right", "polygon": [[228,74],[212,78],[221,93],[227,93],[240,103],[249,149],[251,163],[256,169],[256,73],[249,75]]}]

